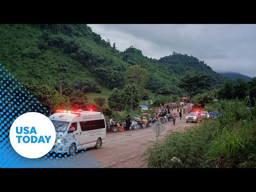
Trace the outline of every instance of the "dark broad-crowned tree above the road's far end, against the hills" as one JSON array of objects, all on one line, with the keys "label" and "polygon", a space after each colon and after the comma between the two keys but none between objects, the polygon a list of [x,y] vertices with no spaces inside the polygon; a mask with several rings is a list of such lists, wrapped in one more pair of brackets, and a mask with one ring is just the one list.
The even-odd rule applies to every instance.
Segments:
[{"label": "dark broad-crowned tree above the road's far end, against the hills", "polygon": [[201,93],[203,90],[209,90],[211,84],[210,79],[206,75],[196,74],[186,75],[181,79],[178,86],[189,93],[191,100],[194,95]]}]

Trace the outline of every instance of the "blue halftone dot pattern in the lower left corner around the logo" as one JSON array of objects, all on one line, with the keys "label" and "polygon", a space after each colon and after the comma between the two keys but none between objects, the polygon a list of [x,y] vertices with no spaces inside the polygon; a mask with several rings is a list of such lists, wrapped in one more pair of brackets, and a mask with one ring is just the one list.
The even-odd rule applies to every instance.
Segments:
[{"label": "blue halftone dot pattern in the lower left corner around the logo", "polygon": [[[0,167],[4,168],[69,168],[69,167],[101,167],[99,161],[91,161],[84,151],[75,156],[65,154],[53,156],[52,151],[36,159],[19,155],[11,146],[9,132],[12,123],[20,115],[28,112],[41,113],[47,117],[51,114],[34,98],[25,86],[8,73],[0,63]],[[68,143],[67,143],[68,144]],[[69,143],[70,144],[70,143]],[[87,151],[89,153],[89,151]],[[68,160],[69,159],[69,162]],[[71,160],[71,161],[70,161]],[[81,166],[82,165],[82,166]]]}]

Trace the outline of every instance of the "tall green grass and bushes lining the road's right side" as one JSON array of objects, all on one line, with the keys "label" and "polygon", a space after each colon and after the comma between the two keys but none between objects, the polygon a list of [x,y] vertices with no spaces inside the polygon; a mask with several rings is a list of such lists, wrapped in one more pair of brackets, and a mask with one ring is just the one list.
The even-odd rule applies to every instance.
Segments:
[{"label": "tall green grass and bushes lining the road's right side", "polygon": [[[221,101],[211,107],[222,116],[148,143],[142,155],[147,166],[255,167],[255,108],[246,109],[245,102],[238,100]],[[173,157],[180,162],[173,162]]]}]

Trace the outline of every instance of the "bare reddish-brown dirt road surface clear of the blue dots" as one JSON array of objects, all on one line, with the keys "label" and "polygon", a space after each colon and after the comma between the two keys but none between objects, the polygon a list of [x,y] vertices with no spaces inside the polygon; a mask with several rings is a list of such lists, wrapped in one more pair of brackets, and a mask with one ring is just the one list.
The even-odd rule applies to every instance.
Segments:
[{"label": "bare reddish-brown dirt road surface clear of the blue dots", "polygon": [[[175,125],[172,122],[167,122],[163,125],[166,129],[161,134],[162,138],[170,130],[184,131],[186,127],[195,125],[195,123],[186,123],[186,115],[182,114],[182,119],[177,118]],[[116,133],[108,132],[106,143],[100,149],[89,149],[89,151],[103,167],[147,167],[141,157],[141,154],[147,148],[147,145],[143,144],[155,140],[156,134],[150,127]]]}]

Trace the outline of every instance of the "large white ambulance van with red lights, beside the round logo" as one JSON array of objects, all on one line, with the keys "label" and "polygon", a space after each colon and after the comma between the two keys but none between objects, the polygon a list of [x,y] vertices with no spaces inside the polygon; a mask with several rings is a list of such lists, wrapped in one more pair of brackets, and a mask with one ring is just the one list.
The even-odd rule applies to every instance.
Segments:
[{"label": "large white ambulance van with red lights, beside the round logo", "polygon": [[52,152],[74,155],[81,149],[99,149],[105,143],[106,121],[102,113],[83,110],[56,112],[49,117],[56,131]]}]

